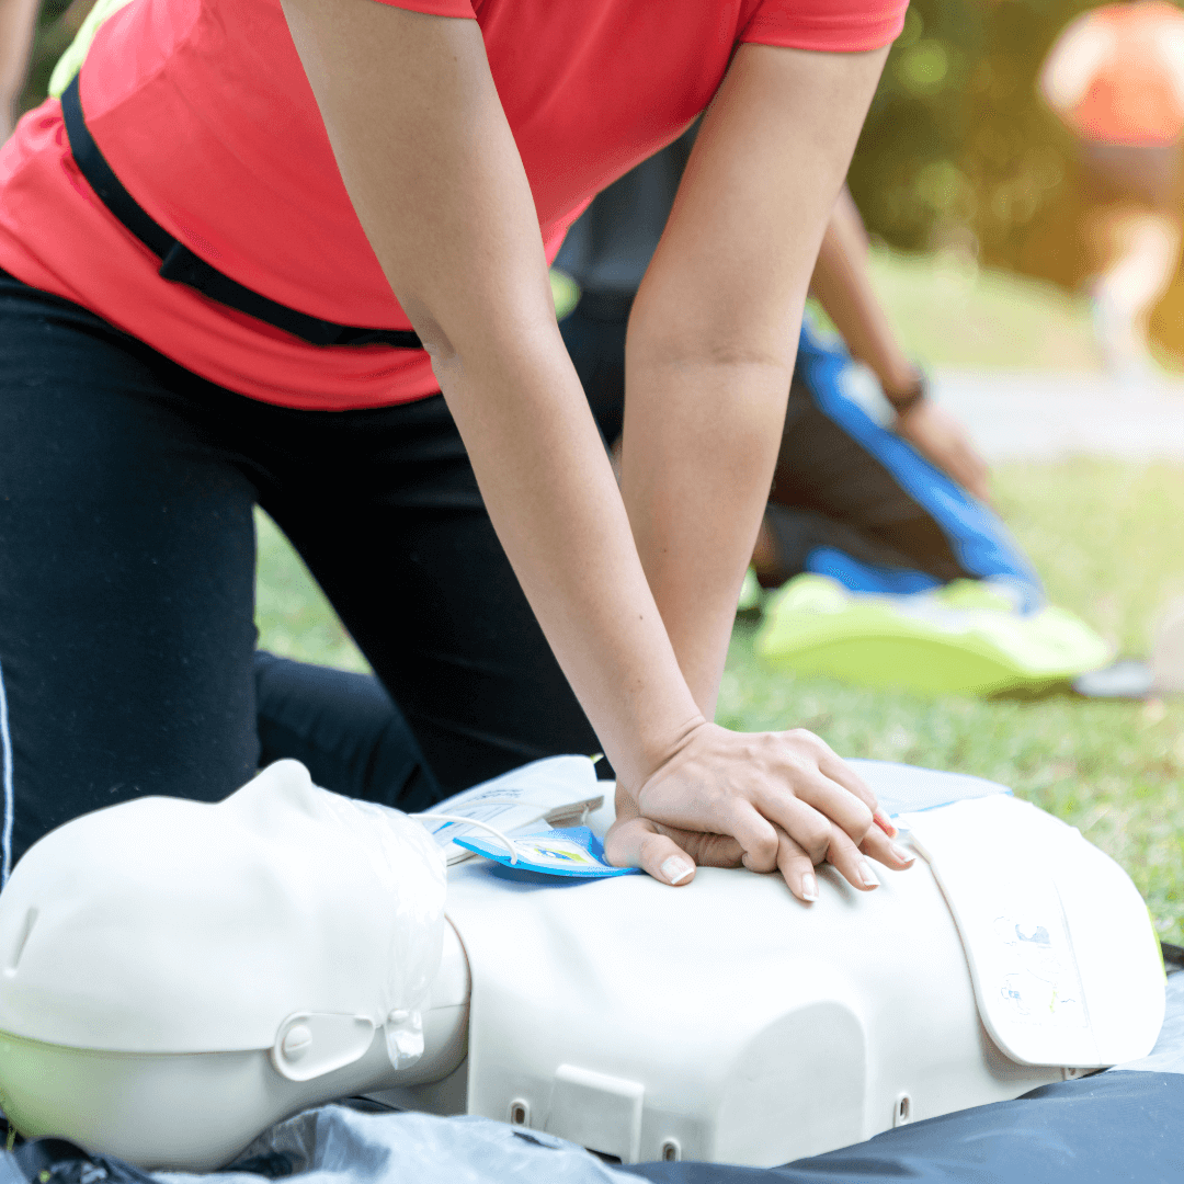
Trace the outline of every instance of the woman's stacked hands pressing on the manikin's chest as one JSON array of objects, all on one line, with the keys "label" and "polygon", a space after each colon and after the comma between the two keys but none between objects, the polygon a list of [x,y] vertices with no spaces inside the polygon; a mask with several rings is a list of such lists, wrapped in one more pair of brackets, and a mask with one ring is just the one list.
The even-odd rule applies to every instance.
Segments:
[{"label": "woman's stacked hands pressing on the manikin's chest", "polygon": [[894,834],[867,783],[813,733],[703,722],[639,789],[618,787],[605,854],[673,884],[689,883],[696,864],[780,871],[812,901],[818,863],[863,892],[880,883],[866,856],[907,868]]}]

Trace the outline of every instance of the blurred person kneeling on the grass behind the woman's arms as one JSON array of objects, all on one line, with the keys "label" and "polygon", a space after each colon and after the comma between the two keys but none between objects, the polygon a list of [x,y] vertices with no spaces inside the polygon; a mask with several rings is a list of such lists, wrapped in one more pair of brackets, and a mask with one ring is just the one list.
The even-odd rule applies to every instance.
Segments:
[{"label": "blurred person kneeling on the grass behind the woman's arms", "polygon": [[[694,131],[610,186],[575,223],[555,263],[580,285],[560,322],[593,414],[613,444],[625,423],[625,339]],[[851,354],[895,410],[884,431],[843,394],[841,347],[803,326],[781,446],[753,566],[766,587],[800,572],[856,591],[914,592],[958,578],[1004,578],[1027,605],[1040,580],[985,508],[986,465],[961,426],[926,397],[871,288],[868,240],[844,187],[811,282]],[[907,443],[903,443],[907,442]]]}]

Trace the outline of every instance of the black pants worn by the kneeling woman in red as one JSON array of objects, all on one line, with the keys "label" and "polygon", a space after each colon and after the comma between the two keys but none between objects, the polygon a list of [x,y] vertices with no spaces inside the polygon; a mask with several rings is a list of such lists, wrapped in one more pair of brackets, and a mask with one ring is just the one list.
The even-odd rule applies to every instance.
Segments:
[{"label": "black pants worn by the kneeling woman in red", "polygon": [[[406,726],[372,682],[256,658],[256,503]],[[330,789],[412,810],[598,747],[443,398],[270,406],[0,272],[6,866],[98,806],[220,799],[260,733],[264,760],[303,757],[348,783]]]}]

